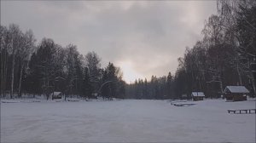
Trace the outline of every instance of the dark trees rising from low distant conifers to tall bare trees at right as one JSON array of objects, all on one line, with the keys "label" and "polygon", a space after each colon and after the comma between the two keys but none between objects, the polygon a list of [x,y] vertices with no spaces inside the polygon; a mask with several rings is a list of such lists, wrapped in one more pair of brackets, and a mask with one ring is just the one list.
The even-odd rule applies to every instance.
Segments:
[{"label": "dark trees rising from low distant conifers to tall bare trees at right", "polygon": [[[256,94],[256,1],[218,0],[218,14],[205,23],[203,38],[178,58],[175,76],[138,79],[127,94],[137,99],[177,99],[203,91],[219,98],[227,85],[243,85]],[[168,78],[169,77],[169,78]]]}]

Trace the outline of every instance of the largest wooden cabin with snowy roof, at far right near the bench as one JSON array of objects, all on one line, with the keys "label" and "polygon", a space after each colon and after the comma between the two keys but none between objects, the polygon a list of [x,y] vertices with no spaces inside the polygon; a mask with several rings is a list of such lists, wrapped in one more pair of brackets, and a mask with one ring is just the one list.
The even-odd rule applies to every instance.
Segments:
[{"label": "largest wooden cabin with snowy roof, at far right near the bench", "polygon": [[226,100],[232,101],[247,100],[247,94],[249,93],[249,90],[244,86],[227,86],[224,89],[224,97]]}]

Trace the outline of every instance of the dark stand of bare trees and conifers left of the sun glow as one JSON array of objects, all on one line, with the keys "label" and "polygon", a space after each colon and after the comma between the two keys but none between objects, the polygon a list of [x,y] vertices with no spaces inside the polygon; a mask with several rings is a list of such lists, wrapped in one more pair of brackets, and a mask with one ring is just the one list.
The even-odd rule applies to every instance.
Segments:
[{"label": "dark stand of bare trees and conifers left of the sun glow", "polygon": [[49,94],[60,91],[83,98],[124,98],[122,72],[113,63],[102,68],[95,52],[79,54],[77,47],[66,47],[44,38],[36,43],[31,30],[23,32],[15,24],[0,27],[1,97],[22,94]]}]

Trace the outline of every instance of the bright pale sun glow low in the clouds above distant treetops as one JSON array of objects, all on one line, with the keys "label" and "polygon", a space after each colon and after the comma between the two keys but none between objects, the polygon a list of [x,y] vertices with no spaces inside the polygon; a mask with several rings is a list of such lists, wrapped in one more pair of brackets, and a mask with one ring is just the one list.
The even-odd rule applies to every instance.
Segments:
[{"label": "bright pale sun glow low in the clouds above distant treetops", "polygon": [[126,83],[133,83],[137,78],[143,77],[131,66],[131,62],[125,61],[118,64],[123,72],[123,79]]}]

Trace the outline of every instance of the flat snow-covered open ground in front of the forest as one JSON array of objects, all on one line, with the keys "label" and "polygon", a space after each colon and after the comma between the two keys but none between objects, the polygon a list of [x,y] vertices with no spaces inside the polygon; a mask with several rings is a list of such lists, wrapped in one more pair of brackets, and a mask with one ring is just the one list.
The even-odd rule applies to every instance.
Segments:
[{"label": "flat snow-covered open ground in front of the forest", "polygon": [[[191,103],[192,101],[189,101]],[[1,142],[255,142],[255,100],[1,103]]]}]

